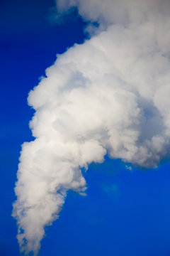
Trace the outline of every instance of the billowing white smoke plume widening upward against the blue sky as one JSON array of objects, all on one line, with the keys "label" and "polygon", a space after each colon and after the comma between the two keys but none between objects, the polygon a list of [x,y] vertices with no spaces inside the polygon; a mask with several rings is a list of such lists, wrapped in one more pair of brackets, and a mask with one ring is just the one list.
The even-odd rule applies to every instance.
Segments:
[{"label": "billowing white smoke plume widening upward against the blue sky", "polygon": [[22,145],[13,216],[35,255],[67,191],[84,194],[81,168],[106,154],[151,168],[169,154],[169,1],[59,0],[58,14],[73,6],[96,36],[57,55],[28,96],[35,140]]}]

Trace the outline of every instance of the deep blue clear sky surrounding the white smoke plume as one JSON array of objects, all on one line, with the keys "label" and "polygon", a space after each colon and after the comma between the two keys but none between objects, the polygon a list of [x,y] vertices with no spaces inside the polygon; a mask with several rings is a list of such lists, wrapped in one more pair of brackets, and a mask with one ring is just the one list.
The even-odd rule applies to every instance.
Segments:
[{"label": "deep blue clear sky surrounding the white smoke plume", "polygon": [[[74,12],[50,22],[54,2],[1,1],[1,225],[0,255],[19,255],[16,221],[11,218],[21,144],[30,141],[27,105],[57,53],[84,41],[86,23]],[[40,256],[169,256],[170,163],[158,169],[125,168],[119,160],[92,164],[84,173],[87,196],[69,192],[60,219],[46,228]]]}]

